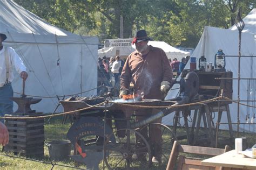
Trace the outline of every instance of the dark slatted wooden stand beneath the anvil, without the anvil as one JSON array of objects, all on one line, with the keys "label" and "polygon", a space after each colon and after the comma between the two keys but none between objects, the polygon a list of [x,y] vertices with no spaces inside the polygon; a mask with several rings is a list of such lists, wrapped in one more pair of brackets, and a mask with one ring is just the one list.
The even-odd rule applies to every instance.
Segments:
[{"label": "dark slatted wooden stand beneath the anvil, without the anvil", "polygon": [[44,119],[10,119],[8,117],[30,117],[5,115],[5,125],[9,131],[6,152],[25,157],[44,156]]}]

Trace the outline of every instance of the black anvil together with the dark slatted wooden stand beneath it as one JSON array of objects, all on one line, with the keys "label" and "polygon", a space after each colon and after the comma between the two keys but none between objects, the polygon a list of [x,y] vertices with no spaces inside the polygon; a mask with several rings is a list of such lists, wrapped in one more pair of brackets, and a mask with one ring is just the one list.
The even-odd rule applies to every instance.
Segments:
[{"label": "black anvil together with the dark slatted wooden stand beneath it", "polygon": [[40,102],[42,98],[23,96],[11,97],[11,100],[18,104],[18,110],[13,115],[5,115],[5,125],[10,138],[4,150],[25,157],[43,157],[44,118],[36,118],[43,113],[30,108],[31,104]]}]

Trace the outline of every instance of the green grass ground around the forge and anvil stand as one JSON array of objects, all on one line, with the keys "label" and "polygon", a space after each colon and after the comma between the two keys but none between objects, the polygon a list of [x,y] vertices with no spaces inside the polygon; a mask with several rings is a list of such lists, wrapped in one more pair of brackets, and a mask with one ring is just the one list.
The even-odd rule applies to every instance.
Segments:
[{"label": "green grass ground around the forge and anvil stand", "polygon": [[[50,141],[50,140],[62,140],[62,139],[67,139],[66,138],[66,133],[68,132],[71,124],[66,123],[62,124],[61,123],[61,117],[57,118],[52,118],[50,122],[48,122],[48,119],[45,121],[45,141]],[[185,129],[184,128],[179,128],[177,130],[177,134],[185,134]],[[227,131],[220,131],[221,136],[228,136]],[[236,135],[235,135],[236,136]],[[256,142],[256,136],[255,134],[252,135],[252,133],[245,133],[241,132],[240,137],[245,136],[248,138],[248,147],[251,147],[255,142]],[[220,139],[221,140],[221,139]],[[186,140],[182,140],[181,144],[186,144]],[[231,146],[231,148],[234,148],[233,143],[228,144]],[[219,147],[224,148],[225,144],[220,144]],[[1,147],[0,147],[0,150]],[[51,169],[52,165],[51,164],[43,164],[42,162],[35,162],[35,161],[30,161],[30,160],[25,160],[25,159],[19,159],[19,158],[13,158],[13,157],[7,157],[3,154],[6,154],[5,152],[0,152],[0,169]],[[19,155],[13,155],[11,153],[8,153],[10,156],[17,157]],[[20,158],[24,158],[19,156]],[[40,161],[45,161],[45,162],[50,162],[49,158],[49,151],[48,147],[44,146],[44,157],[41,159],[35,159],[35,160],[40,160]],[[56,164],[60,165],[65,165],[65,166],[76,166],[76,163],[71,160],[67,159],[65,161],[59,161],[56,162]],[[167,162],[163,162],[163,164],[159,167],[158,165],[153,165],[151,169],[165,169],[166,168]],[[103,169],[103,164],[101,163],[99,165],[100,169]],[[85,165],[80,165],[79,168],[84,168],[86,169]],[[55,165],[53,169],[74,169],[70,167],[63,167],[63,166],[58,166]],[[107,168],[105,168],[107,169]],[[141,168],[139,168],[141,169]]]}]

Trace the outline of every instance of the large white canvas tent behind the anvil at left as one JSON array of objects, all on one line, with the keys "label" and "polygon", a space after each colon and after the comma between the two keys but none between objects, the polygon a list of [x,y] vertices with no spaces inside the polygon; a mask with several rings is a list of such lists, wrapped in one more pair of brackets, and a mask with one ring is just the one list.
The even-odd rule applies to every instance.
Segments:
[{"label": "large white canvas tent behind the anvil at left", "polygon": [[[97,37],[59,29],[14,1],[0,1],[0,32],[7,36],[4,45],[14,48],[28,68],[25,94],[46,97],[31,105],[37,112],[52,112],[58,102],[56,95],[97,87]],[[18,74],[12,86],[22,92]],[[96,90],[79,95],[96,95]]]}]

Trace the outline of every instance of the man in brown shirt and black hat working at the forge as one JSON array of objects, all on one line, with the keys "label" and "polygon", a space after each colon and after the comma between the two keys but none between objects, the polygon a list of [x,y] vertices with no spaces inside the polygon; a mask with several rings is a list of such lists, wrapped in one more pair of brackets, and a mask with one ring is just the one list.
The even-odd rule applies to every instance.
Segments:
[{"label": "man in brown shirt and black hat working at the forge", "polygon": [[[134,96],[147,99],[163,100],[172,83],[172,68],[163,49],[156,48],[147,43],[151,40],[145,30],[139,30],[133,38],[136,51],[131,53],[124,64],[120,77],[119,98],[130,93],[130,83],[134,84]],[[136,111],[136,122],[146,117],[157,114],[156,109],[139,109]],[[154,121],[161,123],[161,118]],[[137,129],[146,139],[147,128]],[[152,162],[161,162],[161,129],[158,126],[150,127],[150,141],[152,147]],[[138,143],[143,144],[142,139],[137,137]],[[138,155],[139,156],[139,155]],[[139,158],[134,155],[135,158]],[[141,158],[143,159],[143,158]]]}]

